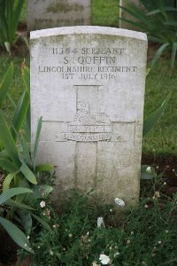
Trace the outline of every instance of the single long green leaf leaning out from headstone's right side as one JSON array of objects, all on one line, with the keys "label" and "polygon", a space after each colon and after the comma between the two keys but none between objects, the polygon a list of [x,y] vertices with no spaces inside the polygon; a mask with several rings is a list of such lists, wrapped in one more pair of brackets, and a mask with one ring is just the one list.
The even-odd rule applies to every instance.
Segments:
[{"label": "single long green leaf leaning out from headstone's right side", "polygon": [[151,113],[150,116],[143,122],[143,131],[142,131],[143,137],[150,131],[150,129],[152,129],[155,126],[158,119],[165,111],[165,106],[167,105],[170,97],[171,97],[171,92],[167,95],[162,105],[159,106],[155,112]]}]

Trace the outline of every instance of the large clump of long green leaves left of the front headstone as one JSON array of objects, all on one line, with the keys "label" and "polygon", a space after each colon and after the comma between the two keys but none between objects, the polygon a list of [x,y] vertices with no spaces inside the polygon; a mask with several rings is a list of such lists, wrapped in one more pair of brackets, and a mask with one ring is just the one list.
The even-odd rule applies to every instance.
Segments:
[{"label": "large clump of long green leaves left of the front headstone", "polygon": [[[0,194],[1,213],[0,223],[9,233],[12,239],[21,247],[29,252],[33,252],[29,246],[27,236],[19,230],[23,228],[28,234],[32,230],[33,218],[42,223],[49,230],[50,226],[38,217],[39,200],[47,197],[52,191],[50,185],[39,185],[41,171],[53,170],[53,166],[49,164],[36,167],[35,160],[31,157],[30,144],[26,139],[30,139],[30,126],[28,122],[29,113],[29,70],[23,65],[22,76],[25,83],[25,91],[19,99],[19,103],[15,107],[12,115],[11,127],[9,128],[5,119],[2,106],[12,83],[13,65],[9,67],[4,80],[0,86],[0,167],[4,171],[3,190]],[[24,134],[23,125],[26,125]],[[42,118],[39,120],[37,133],[35,138],[35,148],[33,154],[37,153],[37,145],[42,129]],[[17,145],[17,140],[18,145]],[[36,208],[34,208],[36,206]],[[15,224],[14,224],[15,223]],[[17,225],[18,226],[17,226]]]}]

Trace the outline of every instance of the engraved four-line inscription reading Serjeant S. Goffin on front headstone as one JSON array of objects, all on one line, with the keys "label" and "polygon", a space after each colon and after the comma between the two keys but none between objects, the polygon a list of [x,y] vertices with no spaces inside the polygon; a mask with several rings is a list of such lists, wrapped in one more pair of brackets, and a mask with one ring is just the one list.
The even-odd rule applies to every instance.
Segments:
[{"label": "engraved four-line inscription reading Serjeant S. Goffin on front headstone", "polygon": [[[114,80],[122,73],[134,74],[139,69],[133,64],[121,64],[122,57],[132,57],[125,47],[71,48],[52,47],[50,55],[58,58],[58,65],[40,65],[39,74],[58,74],[62,80]],[[129,62],[129,60],[127,61]],[[63,66],[61,66],[63,64]]]}]

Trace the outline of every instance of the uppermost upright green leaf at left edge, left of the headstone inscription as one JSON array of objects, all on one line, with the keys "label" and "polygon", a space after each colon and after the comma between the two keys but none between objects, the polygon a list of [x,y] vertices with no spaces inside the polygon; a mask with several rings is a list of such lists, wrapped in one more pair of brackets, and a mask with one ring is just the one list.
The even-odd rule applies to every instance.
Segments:
[{"label": "uppermost upright green leaf at left edge, left of the headstone inscription", "polygon": [[6,98],[7,93],[10,90],[12,84],[12,76],[13,76],[13,64],[11,63],[7,72],[4,75],[4,80],[0,86],[0,107],[3,106],[4,99]]}]

